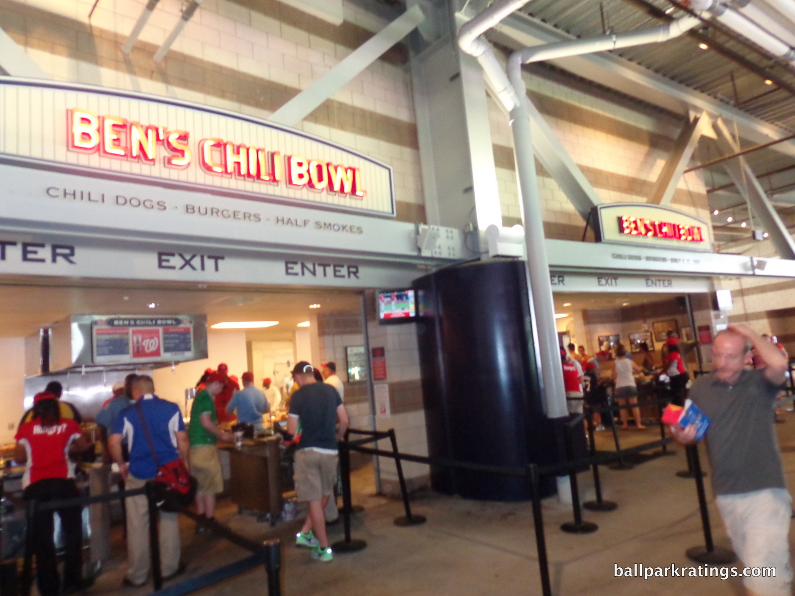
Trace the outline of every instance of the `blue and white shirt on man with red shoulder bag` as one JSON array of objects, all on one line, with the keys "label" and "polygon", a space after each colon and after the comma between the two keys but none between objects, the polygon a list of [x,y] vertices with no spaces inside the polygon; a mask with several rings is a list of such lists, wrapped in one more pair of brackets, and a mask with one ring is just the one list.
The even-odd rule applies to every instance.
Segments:
[{"label": "blue and white shirt on man with red shoulder bag", "polygon": [[132,405],[119,413],[111,434],[122,435],[127,439],[130,447],[130,474],[140,480],[150,480],[157,476],[158,465],[165,466],[179,459],[176,432],[184,431],[185,423],[176,404],[161,400],[151,393],[141,398],[141,408],[157,452],[157,463],[152,459],[152,451],[141,427],[141,419],[138,418],[137,406]]}]

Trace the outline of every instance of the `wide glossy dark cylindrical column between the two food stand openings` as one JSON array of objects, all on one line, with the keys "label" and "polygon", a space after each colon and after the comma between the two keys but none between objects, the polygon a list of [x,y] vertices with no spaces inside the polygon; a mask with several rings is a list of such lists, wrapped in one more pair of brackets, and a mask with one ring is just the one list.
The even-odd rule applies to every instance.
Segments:
[{"label": "wide glossy dark cylindrical column between the two food stand openings", "polygon": [[[522,468],[557,459],[539,391],[522,261],[493,259],[415,281],[432,456]],[[432,467],[435,490],[496,501],[529,499],[524,478]],[[552,493],[544,478],[542,493]]]}]

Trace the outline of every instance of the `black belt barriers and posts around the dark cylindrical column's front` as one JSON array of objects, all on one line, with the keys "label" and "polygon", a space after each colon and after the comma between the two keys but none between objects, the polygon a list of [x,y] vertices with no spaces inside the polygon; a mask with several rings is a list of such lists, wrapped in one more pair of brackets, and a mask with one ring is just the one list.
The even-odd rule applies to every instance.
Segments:
[{"label": "black belt barriers and posts around the dark cylindrical column's front", "polygon": [[[637,408],[643,405],[660,405],[669,403],[666,400],[654,400],[654,401],[646,401],[642,404],[629,404],[626,406],[608,406],[607,408],[598,408],[598,411],[601,412],[611,412],[615,411],[620,408]],[[590,408],[589,408],[590,409]],[[594,408],[591,411],[597,411],[597,408]],[[429,466],[441,466],[441,467],[450,467],[455,468],[458,470],[470,470],[475,472],[483,472],[485,474],[498,474],[498,475],[506,475],[506,476],[514,476],[518,478],[526,478],[527,482],[529,483],[530,488],[530,495],[533,507],[533,526],[535,528],[535,535],[536,535],[536,548],[538,554],[538,567],[539,567],[539,574],[541,576],[541,592],[544,596],[552,596],[552,583],[549,577],[549,559],[547,557],[547,548],[546,548],[546,540],[544,536],[544,520],[541,512],[541,477],[547,475],[560,475],[560,474],[568,474],[569,478],[572,479],[572,497],[576,497],[573,500],[575,505],[575,521],[569,522],[568,524],[563,524],[561,529],[564,531],[572,532],[571,529],[566,529],[565,526],[569,526],[570,528],[574,528],[574,532],[576,533],[586,533],[586,532],[593,532],[596,529],[596,525],[593,529],[585,529],[588,528],[588,522],[582,521],[582,517],[579,513],[579,494],[576,493],[576,470],[582,467],[592,466],[595,472],[595,485],[598,486],[597,489],[597,500],[594,501],[596,503],[601,504],[600,507],[593,507],[589,508],[596,511],[611,511],[615,509],[615,503],[611,501],[603,501],[601,496],[601,485],[599,483],[599,472],[597,466],[599,464],[605,464],[609,462],[619,461],[626,455],[632,455],[641,453],[642,451],[649,451],[651,449],[657,449],[658,447],[662,447],[665,450],[665,447],[673,442],[673,439],[669,437],[665,437],[665,428],[662,428],[661,439],[656,441],[651,441],[650,443],[643,443],[642,445],[637,445],[635,447],[629,447],[626,449],[619,449],[617,451],[596,451],[595,450],[595,443],[593,439],[593,422],[590,416],[591,412],[584,412],[582,415],[577,416],[576,418],[572,419],[568,424],[564,426],[566,432],[566,455],[567,461],[560,462],[556,464],[549,464],[545,466],[538,466],[535,463],[531,463],[524,468],[516,468],[516,467],[507,467],[507,466],[491,466],[488,464],[479,464],[479,463],[471,463],[471,462],[459,462],[453,459],[444,459],[444,458],[436,458],[436,457],[428,457],[424,455],[411,455],[406,453],[401,453],[397,451],[397,441],[395,440],[394,429],[390,429],[387,432],[373,432],[373,431],[359,431],[356,429],[350,429],[348,433],[355,434],[355,435],[365,435],[365,439],[355,439],[354,441],[347,440],[349,434],[346,434],[346,440],[339,442],[339,454],[340,454],[340,464],[343,468],[343,501],[345,503],[344,509],[346,510],[343,516],[343,522],[345,524],[345,540],[339,541],[338,543],[332,544],[332,548],[335,552],[352,552],[352,551],[360,551],[366,547],[366,542],[364,540],[355,540],[351,538],[351,518],[349,514],[349,509],[351,505],[351,451],[358,451],[359,453],[364,453],[367,455],[378,455],[381,457],[392,458],[395,460],[395,464],[397,467],[397,474],[398,478],[401,481],[401,493],[404,501],[404,506],[406,509],[406,517],[411,517],[411,511],[409,509],[409,498],[408,494],[405,490],[405,480],[402,474],[401,468],[401,461],[406,462],[417,462],[417,463],[424,463]],[[590,456],[584,459],[574,459],[573,458],[573,448],[572,448],[572,437],[570,429],[582,422],[583,420],[588,420],[589,425],[589,439],[590,439]],[[383,449],[377,449],[373,447],[365,447],[366,443],[374,443],[378,439],[386,439],[389,438],[392,441],[393,451],[386,451]],[[688,447],[689,448],[689,447]],[[697,451],[696,451],[696,461],[697,461]],[[696,463],[697,469],[700,471],[700,465]],[[702,528],[704,530],[704,540],[706,544],[706,548],[701,547],[694,547],[688,549],[687,555],[692,558],[696,559],[696,556],[700,555],[703,559],[696,559],[702,560],[703,562],[710,562],[710,563],[722,563],[726,559],[731,560],[731,551],[725,551],[724,549],[715,548],[714,544],[712,543],[712,531],[709,525],[709,517],[706,512],[706,497],[704,497],[704,486],[703,482],[701,481],[700,475],[696,479],[696,490],[698,492],[699,497],[699,504],[701,509],[701,517],[702,517]],[[398,518],[400,519],[400,518]],[[422,518],[425,521],[425,518]],[[395,521],[396,524],[397,520]],[[404,525],[404,524],[398,524]]]}]

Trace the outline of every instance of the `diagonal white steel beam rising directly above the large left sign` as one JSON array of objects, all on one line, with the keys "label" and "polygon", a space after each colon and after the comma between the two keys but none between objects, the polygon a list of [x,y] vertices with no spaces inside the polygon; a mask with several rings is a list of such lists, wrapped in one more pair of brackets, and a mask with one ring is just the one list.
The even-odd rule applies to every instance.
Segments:
[{"label": "diagonal white steel beam rising directly above the large left sign", "polygon": [[297,126],[321,103],[355,79],[365,68],[378,60],[386,50],[401,41],[425,20],[420,6],[413,6],[389,25],[365,41],[334,68],[317,79],[308,88],[290,99],[268,118],[285,126]]}]

